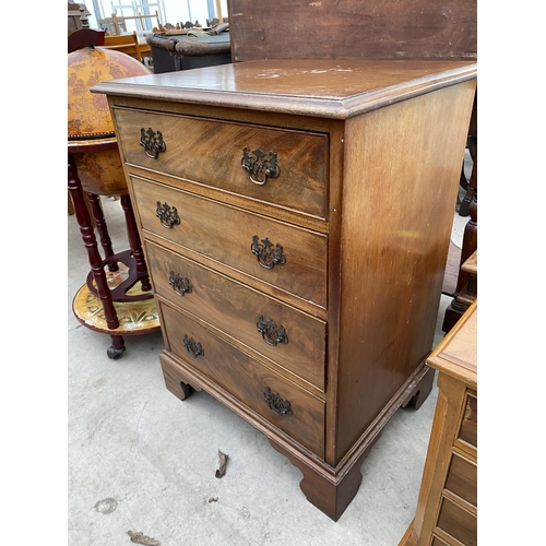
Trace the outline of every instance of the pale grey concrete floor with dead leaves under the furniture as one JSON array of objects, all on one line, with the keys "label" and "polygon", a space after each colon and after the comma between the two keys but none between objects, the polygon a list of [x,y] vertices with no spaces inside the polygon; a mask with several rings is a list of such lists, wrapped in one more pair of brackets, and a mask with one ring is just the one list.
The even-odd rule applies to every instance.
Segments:
[{"label": "pale grey concrete floor with dead leaves under the furniture", "polygon": [[[103,204],[115,250],[128,248],[119,201]],[[459,246],[466,222],[454,215]],[[436,385],[418,411],[399,410],[389,422],[334,523],[306,500],[300,472],[264,436],[205,392],[181,402],[167,391],[159,332],[126,337],[119,360],[106,356],[109,336],[82,327],[71,309],[90,271],[75,216],[68,237],[69,546],[131,544],[129,531],[162,546],[399,544],[415,513]],[[449,301],[442,296],[435,343]],[[218,450],[229,455],[222,479]]]}]

